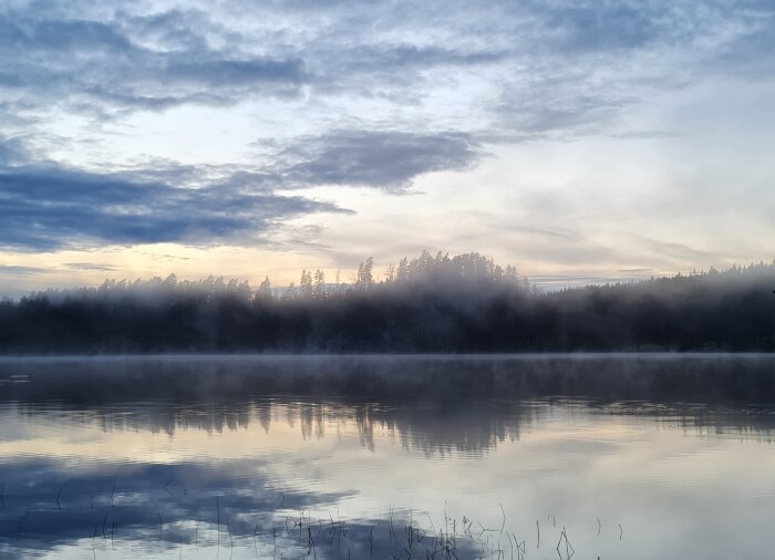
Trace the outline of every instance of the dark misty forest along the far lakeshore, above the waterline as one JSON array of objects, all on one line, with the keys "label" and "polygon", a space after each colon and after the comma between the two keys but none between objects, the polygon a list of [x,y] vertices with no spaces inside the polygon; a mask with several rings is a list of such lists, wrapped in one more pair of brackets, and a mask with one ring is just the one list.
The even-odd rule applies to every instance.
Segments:
[{"label": "dark misty forest along the far lakeshore, above the waterline", "polygon": [[545,293],[482,255],[423,252],[350,283],[172,274],[4,299],[0,352],[772,351],[774,288],[775,261]]}]

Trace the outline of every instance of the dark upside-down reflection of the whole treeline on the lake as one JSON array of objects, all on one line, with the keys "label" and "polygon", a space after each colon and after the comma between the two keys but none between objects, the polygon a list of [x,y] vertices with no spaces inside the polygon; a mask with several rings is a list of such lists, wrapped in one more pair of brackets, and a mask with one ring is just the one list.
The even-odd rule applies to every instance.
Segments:
[{"label": "dark upside-down reflection of the whole treeline on the lake", "polygon": [[775,360],[751,356],[20,361],[0,363],[0,402],[24,414],[105,431],[218,433],[257,423],[270,433],[285,416],[304,439],[354,428],[373,449],[380,429],[428,454],[516,439],[547,398],[743,437],[775,424],[763,414],[775,402]]}]

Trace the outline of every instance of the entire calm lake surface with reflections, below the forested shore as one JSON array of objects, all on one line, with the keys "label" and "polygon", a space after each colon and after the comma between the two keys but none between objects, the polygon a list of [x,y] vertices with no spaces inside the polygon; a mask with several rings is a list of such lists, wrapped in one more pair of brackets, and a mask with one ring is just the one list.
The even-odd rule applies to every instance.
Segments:
[{"label": "entire calm lake surface with reflections, below the forested shore", "polygon": [[773,558],[774,427],[769,356],[4,359],[0,556]]}]

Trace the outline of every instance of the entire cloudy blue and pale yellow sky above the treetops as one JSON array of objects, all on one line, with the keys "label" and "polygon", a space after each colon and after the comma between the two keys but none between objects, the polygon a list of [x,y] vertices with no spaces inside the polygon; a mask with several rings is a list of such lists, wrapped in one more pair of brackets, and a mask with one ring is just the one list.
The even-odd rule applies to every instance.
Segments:
[{"label": "entire cloudy blue and pale yellow sky above the treetops", "polygon": [[0,293],[775,255],[772,0],[0,3]]}]

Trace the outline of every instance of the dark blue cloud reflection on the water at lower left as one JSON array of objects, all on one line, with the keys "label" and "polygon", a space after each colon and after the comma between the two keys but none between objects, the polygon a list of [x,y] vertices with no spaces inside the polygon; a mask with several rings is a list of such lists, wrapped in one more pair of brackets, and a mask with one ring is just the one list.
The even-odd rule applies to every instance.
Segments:
[{"label": "dark blue cloud reflection on the water at lower left", "polygon": [[[415,518],[420,511],[342,519],[337,507],[342,494],[280,490],[260,475],[235,479],[214,466],[122,466],[110,474],[82,473],[38,458],[3,465],[0,477],[0,552],[11,557],[68,546],[127,556],[176,552],[185,546],[187,552],[223,549],[231,556],[236,546],[238,557],[264,558],[276,550],[287,557],[312,547],[320,558],[385,558],[407,548],[424,557],[426,549],[445,546],[434,539],[431,518]],[[453,537],[463,558],[473,558],[475,546],[480,549],[473,535],[450,532]]]}]

